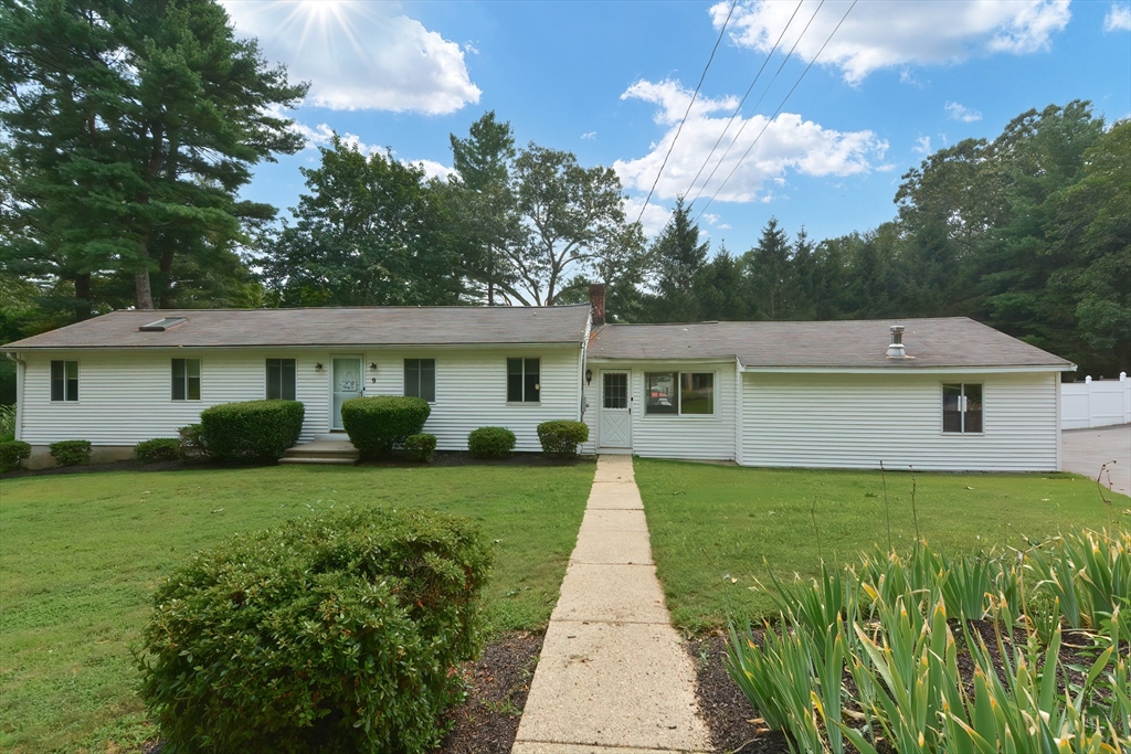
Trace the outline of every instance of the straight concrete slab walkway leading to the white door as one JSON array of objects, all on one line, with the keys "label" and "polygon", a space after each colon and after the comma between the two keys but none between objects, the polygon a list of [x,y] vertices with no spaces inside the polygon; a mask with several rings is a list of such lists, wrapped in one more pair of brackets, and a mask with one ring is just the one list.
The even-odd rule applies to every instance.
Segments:
[{"label": "straight concrete slab walkway leading to the white door", "polygon": [[602,456],[512,754],[709,752],[631,456]]}]

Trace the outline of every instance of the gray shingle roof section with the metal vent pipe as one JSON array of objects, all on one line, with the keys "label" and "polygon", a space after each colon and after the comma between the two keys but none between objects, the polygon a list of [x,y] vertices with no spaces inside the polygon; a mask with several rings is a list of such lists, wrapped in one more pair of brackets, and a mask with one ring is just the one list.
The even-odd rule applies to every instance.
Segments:
[{"label": "gray shingle roof section with the metal vent pipe", "polygon": [[[886,356],[892,324],[907,328],[908,359]],[[1072,364],[965,317],[834,322],[606,324],[590,358],[734,358],[753,367],[1048,366]]]}]

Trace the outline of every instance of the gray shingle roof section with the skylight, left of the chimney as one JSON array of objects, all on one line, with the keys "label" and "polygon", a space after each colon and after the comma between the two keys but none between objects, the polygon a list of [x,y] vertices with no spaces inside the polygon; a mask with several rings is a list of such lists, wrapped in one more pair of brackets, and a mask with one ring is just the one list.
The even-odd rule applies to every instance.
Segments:
[{"label": "gray shingle roof section with the skylight, left of the chimney", "polygon": [[[164,332],[138,328],[163,318],[188,321]],[[33,348],[383,346],[578,344],[589,306],[374,306],[118,311],[17,340]]]}]

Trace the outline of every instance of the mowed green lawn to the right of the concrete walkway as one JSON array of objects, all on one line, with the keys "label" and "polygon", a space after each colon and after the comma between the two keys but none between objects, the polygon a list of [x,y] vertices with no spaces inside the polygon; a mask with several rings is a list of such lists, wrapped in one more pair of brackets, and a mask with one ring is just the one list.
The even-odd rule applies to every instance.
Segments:
[{"label": "mowed green lawn to the right of the concrete walkway", "polygon": [[[772,615],[779,580],[858,562],[875,545],[915,541],[909,473],[752,469],[636,460],[653,557],[676,625],[692,632]],[[948,553],[1024,543],[1060,529],[1105,527],[1095,482],[1068,474],[916,474],[920,535]],[[884,506],[883,483],[888,505]],[[1131,526],[1131,500],[1111,494],[1111,520]]]}]

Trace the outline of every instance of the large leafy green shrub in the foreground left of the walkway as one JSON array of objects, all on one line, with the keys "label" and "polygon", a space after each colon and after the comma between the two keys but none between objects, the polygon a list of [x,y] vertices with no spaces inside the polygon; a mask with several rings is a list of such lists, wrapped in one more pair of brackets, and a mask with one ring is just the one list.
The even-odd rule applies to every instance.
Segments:
[{"label": "large leafy green shrub in the foreground left of the walkway", "polygon": [[157,589],[141,696],[176,752],[432,751],[491,557],[472,521],[417,509],[239,535]]}]

